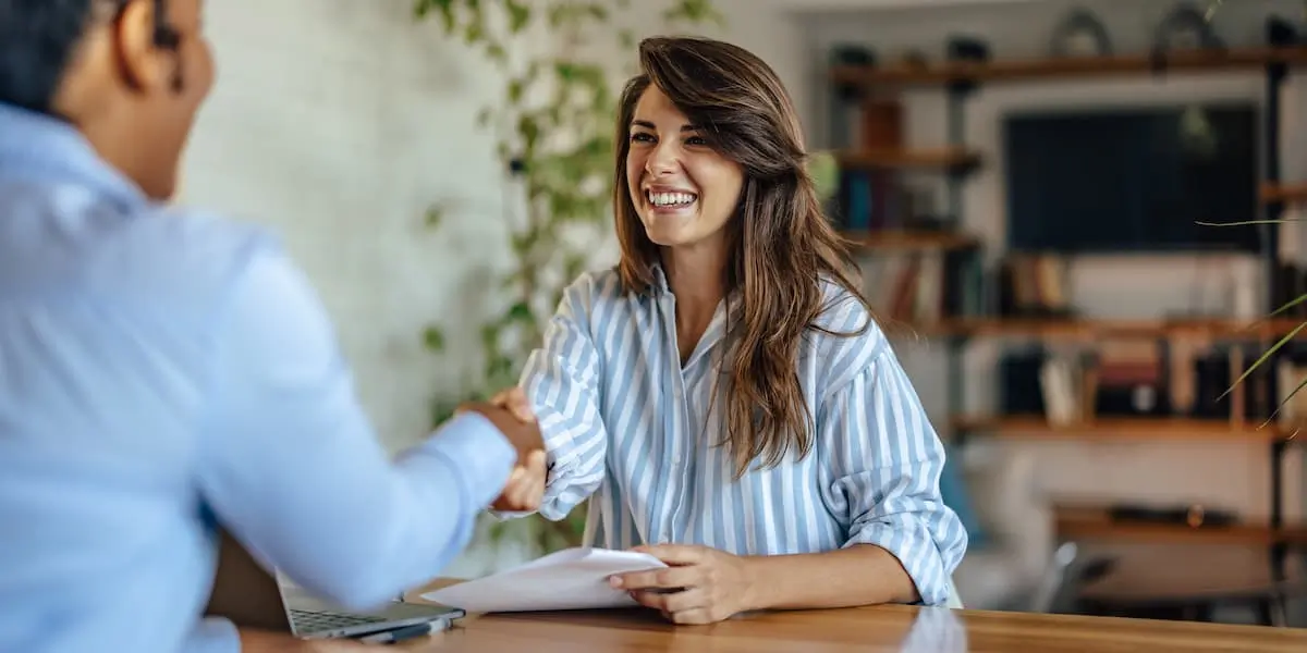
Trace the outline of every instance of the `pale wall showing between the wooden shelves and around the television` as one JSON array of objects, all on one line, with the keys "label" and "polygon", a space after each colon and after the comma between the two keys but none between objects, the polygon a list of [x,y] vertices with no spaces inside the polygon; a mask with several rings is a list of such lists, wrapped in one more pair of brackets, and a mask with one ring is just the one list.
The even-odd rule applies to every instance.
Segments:
[{"label": "pale wall showing between the wooden shelves and around the television", "polygon": [[[801,1],[801,0],[795,0]],[[944,9],[895,9],[885,12],[839,12],[805,17],[806,56],[813,65],[825,60],[834,43],[864,43],[881,56],[893,57],[907,48],[920,48],[929,57],[942,57],[951,34],[988,39],[996,57],[1038,57],[1048,51],[1053,27],[1073,5],[1086,7],[1106,24],[1117,52],[1148,51],[1154,26],[1174,3],[1140,0],[1087,0],[1070,3],[1005,3],[959,5]],[[1246,0],[1226,3],[1216,16],[1216,29],[1229,44],[1261,43],[1268,10],[1297,20],[1302,3]],[[817,141],[825,144],[823,89],[814,82],[810,115]],[[1017,108],[1093,104],[1174,103],[1191,98],[1248,98],[1260,101],[1264,77],[1253,73],[1150,78],[1112,78],[1074,82],[1029,82],[982,86],[967,102],[966,140],[984,157],[983,168],[963,191],[965,226],[980,235],[991,257],[1001,253],[1004,235],[1002,151],[999,125],[1004,112]],[[1285,94],[1286,133],[1282,172],[1287,179],[1307,175],[1302,154],[1303,108],[1307,94],[1295,82]],[[940,90],[911,91],[904,115],[911,142],[921,146],[946,142],[945,103]],[[1295,146],[1297,145],[1297,146]],[[941,197],[942,206],[942,197]],[[1234,257],[1238,259],[1238,257]],[[1191,308],[1196,279],[1225,274],[1229,265],[1252,266],[1253,261],[1218,256],[1098,256],[1082,257],[1072,272],[1072,298],[1091,316],[1154,317]],[[919,390],[935,415],[946,424],[945,363],[940,346],[904,346],[903,357]],[[985,343],[970,347],[966,360],[966,400],[971,413],[992,414],[995,384],[991,381],[996,349]],[[1098,499],[1144,499],[1158,502],[1197,500],[1209,505],[1263,516],[1268,511],[1268,448],[1244,443],[1039,443],[1017,444],[1042,449],[1042,483],[1052,492]],[[1298,511],[1303,492],[1298,465],[1290,462],[1286,507]]]}]

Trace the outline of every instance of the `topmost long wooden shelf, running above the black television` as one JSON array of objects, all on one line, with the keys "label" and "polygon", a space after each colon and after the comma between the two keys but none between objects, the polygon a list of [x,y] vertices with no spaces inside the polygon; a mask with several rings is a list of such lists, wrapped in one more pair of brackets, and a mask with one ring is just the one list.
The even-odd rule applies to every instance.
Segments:
[{"label": "topmost long wooden shelf, running above the black television", "polygon": [[1168,72],[1249,71],[1273,63],[1307,64],[1307,47],[1244,47],[1175,51],[1154,59],[1150,54],[1048,57],[989,63],[941,61],[935,64],[836,65],[831,80],[855,85],[924,86],[967,81],[1026,81],[1050,77],[1111,77]]}]

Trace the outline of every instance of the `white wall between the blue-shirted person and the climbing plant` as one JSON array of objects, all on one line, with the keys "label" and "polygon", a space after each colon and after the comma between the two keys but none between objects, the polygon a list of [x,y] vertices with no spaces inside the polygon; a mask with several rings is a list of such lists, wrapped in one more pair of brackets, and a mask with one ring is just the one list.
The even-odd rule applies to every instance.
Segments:
[{"label": "white wall between the blue-shirted person and the climbing plant", "polygon": [[[209,3],[218,84],[184,182],[186,201],[284,235],[391,448],[427,431],[427,400],[457,380],[422,328],[473,315],[478,270],[503,260],[498,163],[473,124],[486,67],[410,5]],[[426,229],[427,205],[450,197],[450,223]]]}]

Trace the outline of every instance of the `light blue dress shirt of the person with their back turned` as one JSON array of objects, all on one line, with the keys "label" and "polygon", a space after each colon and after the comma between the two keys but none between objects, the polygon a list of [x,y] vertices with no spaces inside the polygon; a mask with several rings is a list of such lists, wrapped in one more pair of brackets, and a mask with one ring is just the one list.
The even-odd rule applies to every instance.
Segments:
[{"label": "light blue dress shirt of the person with their back turned", "polygon": [[391,460],[274,240],[0,104],[0,650],[238,650],[200,618],[214,521],[383,603],[467,546],[514,461],[474,414]]}]

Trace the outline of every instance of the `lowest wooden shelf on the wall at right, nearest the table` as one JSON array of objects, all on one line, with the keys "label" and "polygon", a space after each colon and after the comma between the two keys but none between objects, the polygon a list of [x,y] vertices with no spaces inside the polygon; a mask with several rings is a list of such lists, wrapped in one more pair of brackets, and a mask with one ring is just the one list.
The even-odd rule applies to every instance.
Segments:
[{"label": "lowest wooden shelf on the wall at right, nearest the table", "polygon": [[1059,505],[1053,509],[1057,537],[1074,541],[1132,541],[1141,543],[1307,545],[1307,526],[1278,529],[1266,522],[1189,526],[1146,521],[1114,521],[1107,508]]}]

